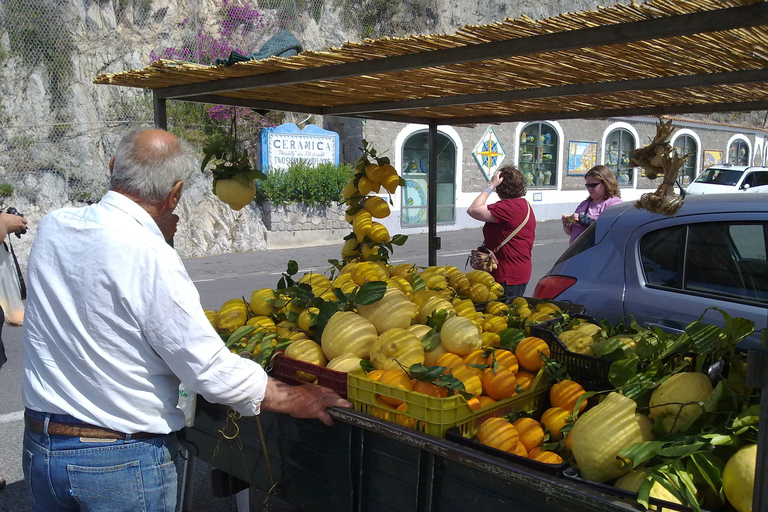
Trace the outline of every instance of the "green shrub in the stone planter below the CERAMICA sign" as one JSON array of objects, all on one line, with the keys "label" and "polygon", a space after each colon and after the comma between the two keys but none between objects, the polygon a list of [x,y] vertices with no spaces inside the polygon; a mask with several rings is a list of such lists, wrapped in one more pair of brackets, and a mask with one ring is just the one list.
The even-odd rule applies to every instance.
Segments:
[{"label": "green shrub in the stone planter below the CERAMICA sign", "polygon": [[354,175],[347,164],[320,164],[312,167],[299,160],[286,171],[268,171],[267,179],[256,182],[256,199],[285,205],[329,206],[341,201],[341,189]]}]

